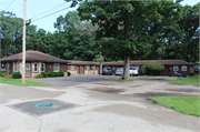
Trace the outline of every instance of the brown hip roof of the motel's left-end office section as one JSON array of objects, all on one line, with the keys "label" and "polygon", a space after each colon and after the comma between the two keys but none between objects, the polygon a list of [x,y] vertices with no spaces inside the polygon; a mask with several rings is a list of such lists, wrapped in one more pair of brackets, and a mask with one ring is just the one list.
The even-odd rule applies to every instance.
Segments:
[{"label": "brown hip roof of the motel's left-end office section", "polygon": [[[2,62],[8,61],[22,61],[22,52],[0,59]],[[54,62],[54,63],[69,63],[66,60],[48,55],[39,51],[26,51],[26,61],[41,61],[41,62]]]}]

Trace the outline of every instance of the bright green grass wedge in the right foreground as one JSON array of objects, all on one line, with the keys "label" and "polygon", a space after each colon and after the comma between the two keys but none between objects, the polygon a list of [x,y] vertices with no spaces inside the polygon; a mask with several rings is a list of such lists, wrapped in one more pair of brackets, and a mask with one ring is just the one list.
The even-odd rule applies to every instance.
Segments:
[{"label": "bright green grass wedge in the right foreground", "polygon": [[200,116],[200,97],[153,97],[149,99],[180,113]]}]

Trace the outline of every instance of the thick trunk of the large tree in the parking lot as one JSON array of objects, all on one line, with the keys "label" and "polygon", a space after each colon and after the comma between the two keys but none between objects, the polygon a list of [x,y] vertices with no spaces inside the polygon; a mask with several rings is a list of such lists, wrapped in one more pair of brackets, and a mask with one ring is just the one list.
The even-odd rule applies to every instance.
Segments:
[{"label": "thick trunk of the large tree in the parking lot", "polygon": [[124,53],[123,80],[130,80],[130,53]]}]

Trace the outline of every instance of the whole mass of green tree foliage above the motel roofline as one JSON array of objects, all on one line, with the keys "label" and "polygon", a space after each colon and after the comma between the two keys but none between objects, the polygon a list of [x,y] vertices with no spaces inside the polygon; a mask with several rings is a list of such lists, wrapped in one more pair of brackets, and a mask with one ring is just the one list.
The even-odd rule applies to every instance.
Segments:
[{"label": "whole mass of green tree foliage above the motel roofline", "polygon": [[[196,62],[199,6],[181,6],[172,0],[86,1],[77,11],[58,17],[53,33],[27,26],[27,50],[67,60],[124,60],[124,69],[129,69],[129,60],[189,61],[188,54]],[[22,19],[6,11],[0,12],[0,19],[1,58],[21,52]]]}]

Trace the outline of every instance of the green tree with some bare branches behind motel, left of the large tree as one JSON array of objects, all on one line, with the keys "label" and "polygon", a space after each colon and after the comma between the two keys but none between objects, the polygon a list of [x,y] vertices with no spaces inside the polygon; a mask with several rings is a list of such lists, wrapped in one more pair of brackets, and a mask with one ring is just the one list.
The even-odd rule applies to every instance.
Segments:
[{"label": "green tree with some bare branches behind motel, left of the large tree", "polygon": [[81,60],[92,60],[99,52],[98,42],[94,40],[91,23],[80,21],[77,11],[71,11],[66,17],[60,16],[54,23],[54,48],[63,59],[72,60],[78,57]]}]

